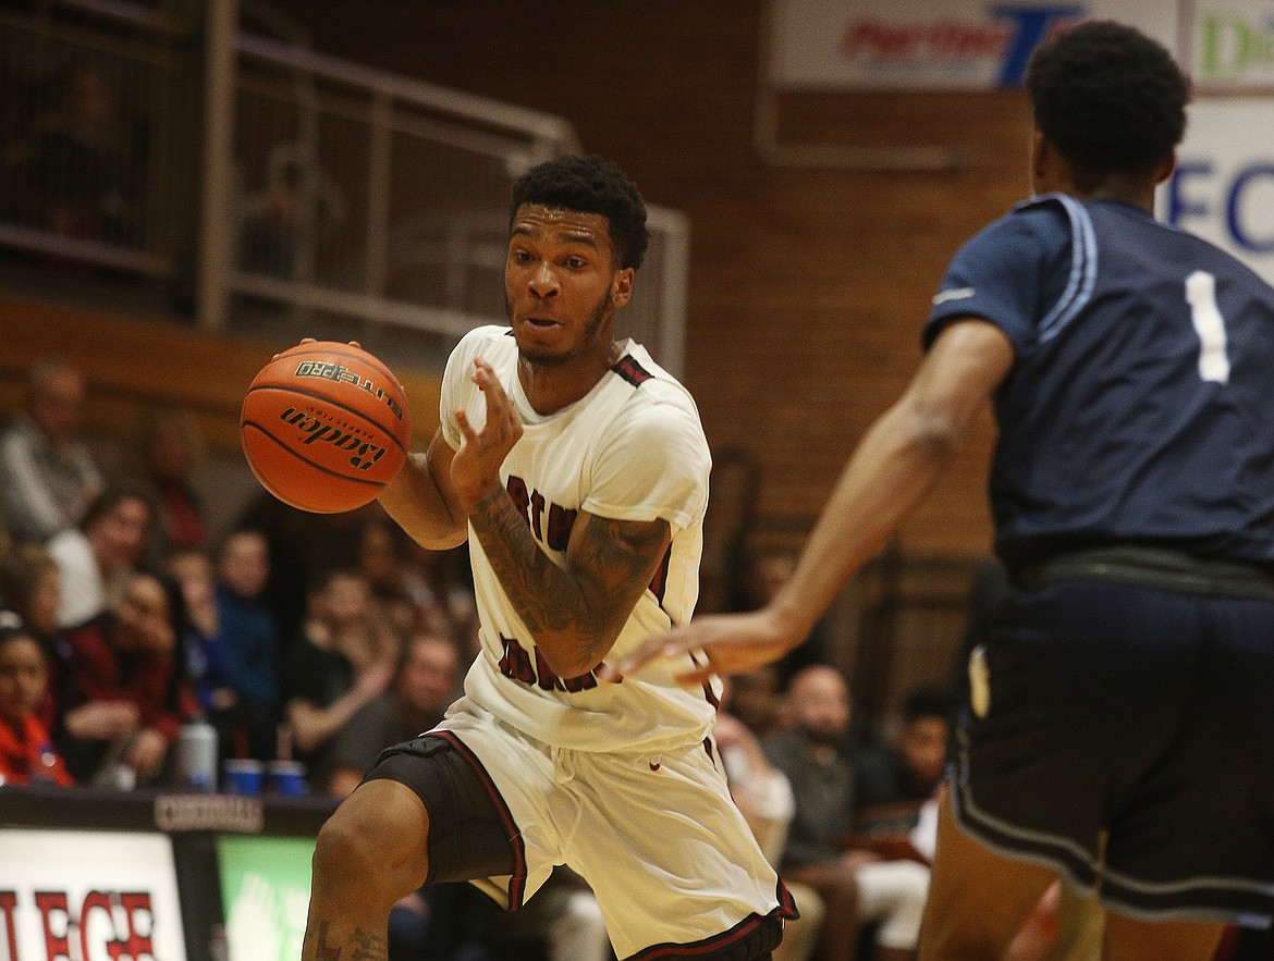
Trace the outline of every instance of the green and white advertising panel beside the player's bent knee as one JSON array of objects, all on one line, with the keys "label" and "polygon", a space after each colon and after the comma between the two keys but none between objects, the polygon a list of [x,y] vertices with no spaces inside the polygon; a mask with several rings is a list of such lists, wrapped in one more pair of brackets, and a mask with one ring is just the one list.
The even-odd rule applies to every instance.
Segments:
[{"label": "green and white advertising panel beside the player's bent knee", "polygon": [[229,961],[296,961],[310,905],[312,838],[217,839]]}]

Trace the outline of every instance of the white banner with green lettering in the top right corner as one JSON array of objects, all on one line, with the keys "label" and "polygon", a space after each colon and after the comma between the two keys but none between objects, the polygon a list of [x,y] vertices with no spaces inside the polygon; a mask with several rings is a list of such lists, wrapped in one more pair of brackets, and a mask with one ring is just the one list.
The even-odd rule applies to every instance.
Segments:
[{"label": "white banner with green lettering in the top right corner", "polygon": [[1199,90],[1274,88],[1274,0],[1194,0],[1184,64]]}]

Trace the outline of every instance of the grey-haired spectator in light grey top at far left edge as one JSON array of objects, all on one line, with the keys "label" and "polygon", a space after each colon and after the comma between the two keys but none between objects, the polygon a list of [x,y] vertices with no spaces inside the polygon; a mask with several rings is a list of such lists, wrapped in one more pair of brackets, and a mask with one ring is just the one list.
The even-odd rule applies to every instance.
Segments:
[{"label": "grey-haired spectator in light grey top at far left edge", "polygon": [[74,528],[102,490],[93,456],[76,438],[84,374],[62,360],[36,364],[23,410],[0,435],[0,526],[19,541]]}]

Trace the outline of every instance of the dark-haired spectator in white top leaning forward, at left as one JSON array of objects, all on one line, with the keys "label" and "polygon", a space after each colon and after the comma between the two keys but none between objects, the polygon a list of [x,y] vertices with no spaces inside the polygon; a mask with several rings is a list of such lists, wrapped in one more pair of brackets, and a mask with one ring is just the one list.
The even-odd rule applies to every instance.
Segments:
[{"label": "dark-haired spectator in white top leaning forward, at left", "polygon": [[48,541],[62,574],[60,628],[78,628],[124,594],[150,528],[149,495],[140,488],[111,486],[89,504],[79,528]]}]

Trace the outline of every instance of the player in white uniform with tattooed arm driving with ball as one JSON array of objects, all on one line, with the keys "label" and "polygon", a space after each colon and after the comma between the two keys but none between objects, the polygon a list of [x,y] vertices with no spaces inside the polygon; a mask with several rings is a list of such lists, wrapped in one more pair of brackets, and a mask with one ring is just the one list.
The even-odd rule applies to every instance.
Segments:
[{"label": "player in white uniform with tattooed arm driving with ball", "polygon": [[390,906],[473,881],[516,910],[566,863],[618,957],[768,958],[790,899],[708,738],[687,656],[600,685],[603,658],[684,622],[710,456],[693,401],[614,340],[646,249],[641,195],[600,158],[513,188],[512,327],[452,353],[441,426],[381,495],[417,541],[469,537],[482,653],[432,732],[390,748],[318,835],[303,956],[386,957]]}]

